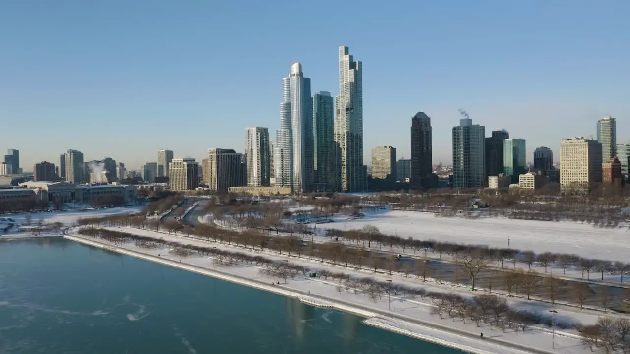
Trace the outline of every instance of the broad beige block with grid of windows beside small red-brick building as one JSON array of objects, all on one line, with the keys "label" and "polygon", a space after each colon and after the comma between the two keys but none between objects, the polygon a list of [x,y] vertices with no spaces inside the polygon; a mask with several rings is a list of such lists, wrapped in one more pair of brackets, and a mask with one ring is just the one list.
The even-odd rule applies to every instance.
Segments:
[{"label": "broad beige block with grid of windows beside small red-brick building", "polygon": [[560,142],[561,191],[586,193],[602,182],[602,143],[576,137]]}]

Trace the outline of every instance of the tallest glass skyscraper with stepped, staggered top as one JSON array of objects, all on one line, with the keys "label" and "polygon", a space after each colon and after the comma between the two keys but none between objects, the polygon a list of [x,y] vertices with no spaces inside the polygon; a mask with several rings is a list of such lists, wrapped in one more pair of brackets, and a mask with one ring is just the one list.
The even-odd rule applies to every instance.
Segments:
[{"label": "tallest glass skyscraper with stepped, staggered top", "polygon": [[363,164],[363,75],[348,47],[339,47],[339,96],[335,102],[335,142],[340,151],[342,191],[365,190]]}]

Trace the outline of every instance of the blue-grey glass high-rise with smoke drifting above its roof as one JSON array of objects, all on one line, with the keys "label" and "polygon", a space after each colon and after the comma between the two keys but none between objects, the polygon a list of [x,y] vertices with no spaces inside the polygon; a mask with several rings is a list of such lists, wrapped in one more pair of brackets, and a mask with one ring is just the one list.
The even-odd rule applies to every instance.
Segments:
[{"label": "blue-grey glass high-rise with smoke drifting above its roof", "polygon": [[[459,120],[453,127],[453,188],[482,188],[486,183],[486,127]],[[412,164],[413,168],[413,164]]]}]

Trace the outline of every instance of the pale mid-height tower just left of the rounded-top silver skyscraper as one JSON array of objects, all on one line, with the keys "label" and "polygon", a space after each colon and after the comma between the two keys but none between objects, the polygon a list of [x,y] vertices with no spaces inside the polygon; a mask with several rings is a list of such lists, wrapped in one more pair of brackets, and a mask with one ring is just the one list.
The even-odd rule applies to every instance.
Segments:
[{"label": "pale mid-height tower just left of the rounded-top silver skyscraper", "polygon": [[250,127],[245,130],[245,156],[247,158],[247,185],[269,186],[269,130]]}]

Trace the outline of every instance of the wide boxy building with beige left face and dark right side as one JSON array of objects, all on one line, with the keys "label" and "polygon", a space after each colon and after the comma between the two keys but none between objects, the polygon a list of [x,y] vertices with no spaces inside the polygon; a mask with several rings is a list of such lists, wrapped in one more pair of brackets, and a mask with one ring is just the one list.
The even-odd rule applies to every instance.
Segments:
[{"label": "wide boxy building with beige left face and dark right side", "polygon": [[243,154],[234,150],[208,149],[208,188],[219,193],[227,193],[230,187],[245,186],[246,162]]}]

